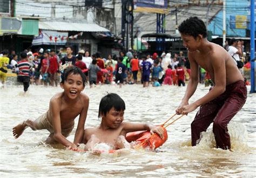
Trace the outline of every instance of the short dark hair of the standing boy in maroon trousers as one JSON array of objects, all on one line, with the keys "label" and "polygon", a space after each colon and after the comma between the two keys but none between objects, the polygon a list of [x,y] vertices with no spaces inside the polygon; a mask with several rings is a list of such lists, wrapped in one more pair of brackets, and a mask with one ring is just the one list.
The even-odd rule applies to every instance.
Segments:
[{"label": "short dark hair of the standing boy in maroon trousers", "polygon": [[207,30],[203,20],[198,17],[190,17],[183,21],[179,25],[179,32],[187,35],[191,35],[196,39],[199,34],[203,35],[204,38],[207,37]]}]

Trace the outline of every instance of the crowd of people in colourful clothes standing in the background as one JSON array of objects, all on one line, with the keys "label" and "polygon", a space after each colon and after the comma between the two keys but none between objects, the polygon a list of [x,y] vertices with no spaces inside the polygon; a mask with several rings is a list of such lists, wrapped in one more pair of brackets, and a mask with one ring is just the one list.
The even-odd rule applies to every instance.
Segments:
[{"label": "crowd of people in colourful clothes standing in the background", "polygon": [[[237,62],[242,74],[242,68],[250,68],[250,58],[246,58],[241,40],[231,39],[224,48],[234,62]],[[122,87],[123,84],[138,83],[142,83],[143,87],[148,87],[150,83],[153,87],[185,86],[185,81],[190,78],[190,62],[183,51],[173,55],[170,52],[151,55],[130,50],[127,53],[120,51],[119,55],[109,54],[103,58],[100,52],[90,56],[84,49],[74,55],[73,48],[68,46],[64,58],[57,55],[54,49],[39,48],[35,53],[25,50],[19,56],[15,51],[9,53],[4,50],[0,54],[0,79],[4,84],[9,68],[12,73],[17,74],[19,82],[25,83],[24,91],[28,90],[29,84],[57,87],[61,73],[71,65],[83,71],[90,88],[97,84],[119,84]],[[200,83],[205,86],[213,84],[205,69],[200,68],[199,73]]]}]

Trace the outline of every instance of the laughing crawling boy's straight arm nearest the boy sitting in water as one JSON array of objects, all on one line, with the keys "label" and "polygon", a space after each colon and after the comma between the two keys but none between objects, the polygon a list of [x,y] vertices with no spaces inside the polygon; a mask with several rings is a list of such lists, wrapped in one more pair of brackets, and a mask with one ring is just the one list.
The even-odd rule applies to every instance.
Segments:
[{"label": "laughing crawling boy's straight arm nearest the boy sitting in water", "polygon": [[87,111],[89,108],[89,97],[84,96],[84,107],[82,112],[80,113],[79,116],[79,121],[78,121],[78,125],[77,125],[77,130],[75,133],[75,139],[74,139],[74,144],[78,145],[79,143],[82,143],[82,139],[84,136],[84,124],[85,124],[85,120],[87,117]]}]

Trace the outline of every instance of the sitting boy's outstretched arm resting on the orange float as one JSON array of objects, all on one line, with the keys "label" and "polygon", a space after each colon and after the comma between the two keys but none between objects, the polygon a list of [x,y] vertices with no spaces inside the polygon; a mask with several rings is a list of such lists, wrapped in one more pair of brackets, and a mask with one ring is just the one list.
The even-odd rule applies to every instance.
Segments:
[{"label": "sitting boy's outstretched arm resting on the orange float", "polygon": [[123,122],[122,124],[123,124],[124,136],[128,132],[147,130],[147,131],[150,131],[151,134],[157,133],[160,136],[160,138],[164,138],[164,130],[161,127],[154,126],[153,124],[130,123],[130,122]]}]

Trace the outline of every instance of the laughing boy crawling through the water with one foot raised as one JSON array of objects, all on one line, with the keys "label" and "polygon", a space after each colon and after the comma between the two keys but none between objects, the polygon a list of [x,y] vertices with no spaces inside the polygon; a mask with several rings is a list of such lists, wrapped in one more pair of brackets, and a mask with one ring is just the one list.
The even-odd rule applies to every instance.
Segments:
[{"label": "laughing boy crawling through the water with one foot raised", "polygon": [[[82,91],[85,87],[85,75],[78,67],[68,67],[63,75],[60,87],[64,89],[51,98],[49,110],[36,120],[26,120],[12,130],[14,137],[21,136],[26,127],[32,130],[47,129],[50,135],[46,143],[60,143],[71,149],[77,149],[84,134],[84,124],[89,107],[89,97]],[[74,143],[66,137],[74,127],[74,120],[79,115]]]}]

